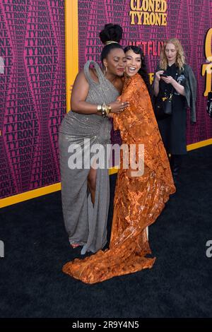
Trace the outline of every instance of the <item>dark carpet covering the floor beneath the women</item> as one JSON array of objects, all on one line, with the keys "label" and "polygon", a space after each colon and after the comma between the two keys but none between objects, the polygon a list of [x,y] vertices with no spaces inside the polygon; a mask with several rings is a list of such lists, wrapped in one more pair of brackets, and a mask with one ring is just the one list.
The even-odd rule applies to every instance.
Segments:
[{"label": "dark carpet covering the floor beneath the women", "polygon": [[211,317],[211,171],[212,146],[190,152],[177,194],[149,230],[153,268],[96,285],[61,272],[80,249],[69,247],[60,192],[1,209],[0,316]]}]

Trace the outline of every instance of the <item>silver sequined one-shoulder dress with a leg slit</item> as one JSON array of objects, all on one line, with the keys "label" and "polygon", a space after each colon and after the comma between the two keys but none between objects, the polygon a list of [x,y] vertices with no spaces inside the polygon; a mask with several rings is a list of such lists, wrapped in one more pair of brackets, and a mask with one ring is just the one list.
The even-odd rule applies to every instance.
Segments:
[{"label": "silver sequined one-shoulder dress with a leg slit", "polygon": [[[99,83],[93,81],[89,67],[93,64],[98,74]],[[95,61],[88,61],[84,66],[84,73],[89,83],[86,102],[95,105],[110,104],[119,96],[119,92],[110,81],[105,78]],[[69,112],[64,117],[59,129],[59,151],[61,168],[61,197],[64,223],[71,244],[81,244],[86,251],[96,252],[107,242],[107,215],[110,201],[110,183],[107,168],[98,168],[95,191],[95,205],[93,206],[88,191],[87,179],[90,168],[88,161],[93,153],[88,150],[94,144],[101,144],[105,150],[110,144],[111,124],[109,119],[96,114],[79,114]],[[86,141],[85,141],[86,140]],[[86,142],[86,144],[85,144]],[[89,143],[88,143],[89,142]],[[73,145],[83,152],[82,167],[69,167],[71,148]],[[90,145],[90,148],[89,148]],[[88,167],[88,168],[86,168]]]}]

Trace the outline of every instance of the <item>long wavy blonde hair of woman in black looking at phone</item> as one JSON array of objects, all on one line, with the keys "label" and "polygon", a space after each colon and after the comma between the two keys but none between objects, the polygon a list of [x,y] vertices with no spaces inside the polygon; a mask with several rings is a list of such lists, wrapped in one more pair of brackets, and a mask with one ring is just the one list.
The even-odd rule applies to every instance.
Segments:
[{"label": "long wavy blonde hair of woman in black looking at phone", "polygon": [[179,70],[182,71],[183,66],[185,64],[184,50],[177,38],[170,38],[168,40],[165,40],[163,47],[160,51],[160,68],[163,69],[164,71],[167,69],[168,62],[167,62],[167,57],[165,55],[165,47],[167,44],[175,45],[175,49],[177,50],[177,59],[175,61],[175,64],[179,68]]}]

